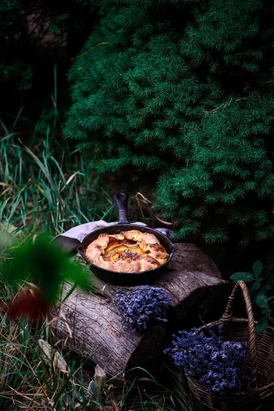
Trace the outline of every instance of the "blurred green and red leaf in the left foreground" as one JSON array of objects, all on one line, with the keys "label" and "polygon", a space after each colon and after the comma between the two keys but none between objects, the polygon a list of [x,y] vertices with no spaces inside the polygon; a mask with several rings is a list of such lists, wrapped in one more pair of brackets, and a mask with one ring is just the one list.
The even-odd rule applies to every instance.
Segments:
[{"label": "blurred green and red leaf in the left foreground", "polygon": [[39,292],[31,290],[30,294],[23,292],[12,301],[10,310],[16,315],[25,307],[22,312],[32,316],[29,311],[32,303],[33,306],[41,306],[40,312],[45,312],[45,307],[60,299],[61,287],[65,281],[84,291],[92,288],[88,272],[82,266],[71,262],[45,235],[36,236],[34,240],[18,247],[12,264],[8,268],[3,265],[1,273],[10,283],[18,284],[27,280],[39,289]]}]

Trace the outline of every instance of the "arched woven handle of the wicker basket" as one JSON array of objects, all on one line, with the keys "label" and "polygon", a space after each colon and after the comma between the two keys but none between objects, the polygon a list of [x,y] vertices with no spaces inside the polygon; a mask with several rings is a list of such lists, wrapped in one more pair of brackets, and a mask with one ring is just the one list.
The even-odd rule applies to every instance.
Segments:
[{"label": "arched woven handle of the wicker basket", "polygon": [[221,321],[227,322],[232,321],[232,308],[234,306],[234,301],[236,299],[236,295],[239,290],[242,290],[242,294],[245,299],[245,308],[247,310],[247,321],[248,321],[248,329],[249,329],[249,350],[250,350],[250,362],[251,362],[251,379],[249,384],[249,390],[254,393],[257,390],[258,384],[258,369],[257,369],[257,353],[256,353],[256,332],[255,332],[255,324],[254,324],[254,316],[252,311],[252,303],[251,298],[249,295],[249,290],[247,288],[247,284],[242,280],[238,281],[233,288],[232,295],[230,295],[228,299],[227,306],[225,308],[225,312],[221,318]]}]

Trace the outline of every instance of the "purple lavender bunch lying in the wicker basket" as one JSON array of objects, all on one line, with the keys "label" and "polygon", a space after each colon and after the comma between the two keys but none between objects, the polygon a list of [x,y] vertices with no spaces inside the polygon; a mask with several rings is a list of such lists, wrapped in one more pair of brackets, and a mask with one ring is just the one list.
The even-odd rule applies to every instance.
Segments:
[{"label": "purple lavender bunch lying in the wicker basket", "polygon": [[248,370],[243,365],[247,356],[246,343],[224,341],[218,333],[206,327],[206,332],[193,328],[174,336],[173,348],[164,352],[171,354],[175,365],[189,377],[206,386],[206,390],[223,395],[227,390],[238,390],[248,381]]}]

